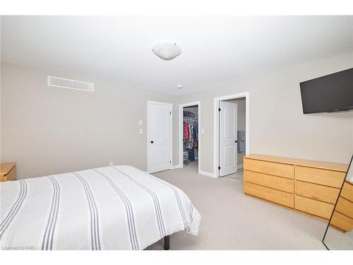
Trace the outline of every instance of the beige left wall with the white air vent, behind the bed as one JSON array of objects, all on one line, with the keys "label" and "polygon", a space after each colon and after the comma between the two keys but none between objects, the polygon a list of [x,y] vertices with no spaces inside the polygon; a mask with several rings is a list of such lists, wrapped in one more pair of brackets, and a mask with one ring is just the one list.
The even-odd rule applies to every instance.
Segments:
[{"label": "beige left wall with the white air vent, behind the bed", "polygon": [[[48,87],[47,75],[92,81],[95,91]],[[1,64],[1,161],[16,161],[18,178],[111,161],[147,170],[148,100],[173,103],[177,131],[176,96],[126,89],[94,76]],[[143,126],[138,125],[140,119]],[[174,137],[174,165],[179,163],[177,141]]]}]

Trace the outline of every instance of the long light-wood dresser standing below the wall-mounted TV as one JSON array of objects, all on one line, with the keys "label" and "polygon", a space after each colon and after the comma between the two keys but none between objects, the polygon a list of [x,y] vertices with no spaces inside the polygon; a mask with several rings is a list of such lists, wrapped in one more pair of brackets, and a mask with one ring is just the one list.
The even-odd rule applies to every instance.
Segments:
[{"label": "long light-wood dresser standing below the wall-mounted TV", "polygon": [[330,219],[348,165],[272,155],[244,157],[244,194]]}]

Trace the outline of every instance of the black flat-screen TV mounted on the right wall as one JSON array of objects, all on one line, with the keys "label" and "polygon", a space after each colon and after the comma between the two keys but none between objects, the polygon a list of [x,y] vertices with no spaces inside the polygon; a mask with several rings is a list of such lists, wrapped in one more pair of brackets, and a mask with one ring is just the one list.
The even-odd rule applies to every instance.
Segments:
[{"label": "black flat-screen TV mounted on the right wall", "polygon": [[300,83],[303,112],[353,109],[353,68]]}]

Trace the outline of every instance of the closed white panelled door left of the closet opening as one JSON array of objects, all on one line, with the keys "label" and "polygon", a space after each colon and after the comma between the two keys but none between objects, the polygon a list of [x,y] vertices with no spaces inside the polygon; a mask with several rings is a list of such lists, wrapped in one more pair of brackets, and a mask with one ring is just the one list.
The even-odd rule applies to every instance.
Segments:
[{"label": "closed white panelled door left of the closet opening", "polygon": [[148,172],[169,170],[172,165],[172,105],[148,102]]}]

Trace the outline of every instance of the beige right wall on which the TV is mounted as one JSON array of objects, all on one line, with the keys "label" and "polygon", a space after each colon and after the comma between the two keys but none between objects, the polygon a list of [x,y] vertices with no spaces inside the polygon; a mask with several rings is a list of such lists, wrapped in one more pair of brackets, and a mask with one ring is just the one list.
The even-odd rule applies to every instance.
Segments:
[{"label": "beige right wall on which the TV is mounted", "polygon": [[213,172],[213,98],[249,91],[250,153],[349,163],[353,112],[303,114],[299,82],[353,67],[353,52],[287,69],[254,73],[229,85],[182,95],[201,101],[201,170]]}]

